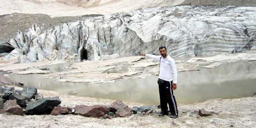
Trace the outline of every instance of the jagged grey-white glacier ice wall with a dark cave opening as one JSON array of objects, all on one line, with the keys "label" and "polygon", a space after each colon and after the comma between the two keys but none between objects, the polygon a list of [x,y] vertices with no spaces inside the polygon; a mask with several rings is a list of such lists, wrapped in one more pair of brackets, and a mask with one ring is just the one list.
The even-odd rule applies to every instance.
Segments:
[{"label": "jagged grey-white glacier ice wall with a dark cave opening", "polygon": [[105,55],[158,54],[174,57],[255,50],[255,7],[176,6],[147,8],[63,23],[42,31],[33,25],[7,41],[4,59],[99,60]]}]

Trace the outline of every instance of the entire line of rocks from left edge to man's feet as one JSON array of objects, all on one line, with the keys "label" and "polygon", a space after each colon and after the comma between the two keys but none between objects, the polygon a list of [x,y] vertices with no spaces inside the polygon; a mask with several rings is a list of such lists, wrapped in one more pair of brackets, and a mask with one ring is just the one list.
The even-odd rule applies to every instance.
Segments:
[{"label": "entire line of rocks from left edge to man's feet", "polygon": [[14,87],[0,86],[0,113],[15,115],[40,115],[40,114],[76,114],[85,117],[111,119],[111,117],[129,117],[131,114],[156,113],[150,106],[133,107],[124,104],[120,100],[111,103],[110,106],[101,105],[76,105],[74,107],[60,106],[59,97],[43,97],[37,93],[37,88],[24,87],[15,90]]}]

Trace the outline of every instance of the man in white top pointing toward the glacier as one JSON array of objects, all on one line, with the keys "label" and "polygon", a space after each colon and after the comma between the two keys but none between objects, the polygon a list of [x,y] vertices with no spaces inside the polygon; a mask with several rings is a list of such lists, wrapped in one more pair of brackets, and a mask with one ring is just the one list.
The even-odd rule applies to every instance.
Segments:
[{"label": "man in white top pointing toward the glacier", "polygon": [[[159,116],[168,115],[168,106],[171,112],[170,118],[178,118],[177,103],[174,97],[173,90],[177,88],[177,69],[174,62],[167,53],[166,47],[159,47],[161,56],[154,56],[152,54],[141,53],[141,56],[152,58],[160,62],[160,69],[158,75],[158,87],[160,95],[161,111]],[[173,78],[172,78],[173,74]]]}]

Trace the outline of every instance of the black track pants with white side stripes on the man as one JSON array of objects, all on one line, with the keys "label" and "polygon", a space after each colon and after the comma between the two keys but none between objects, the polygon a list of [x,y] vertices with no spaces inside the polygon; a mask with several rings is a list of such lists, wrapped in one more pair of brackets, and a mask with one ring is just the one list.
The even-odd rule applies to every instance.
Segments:
[{"label": "black track pants with white side stripes on the man", "polygon": [[162,112],[168,111],[168,106],[172,115],[178,115],[177,103],[174,97],[174,92],[172,89],[172,81],[164,81],[158,78],[159,96],[160,96],[160,106]]}]

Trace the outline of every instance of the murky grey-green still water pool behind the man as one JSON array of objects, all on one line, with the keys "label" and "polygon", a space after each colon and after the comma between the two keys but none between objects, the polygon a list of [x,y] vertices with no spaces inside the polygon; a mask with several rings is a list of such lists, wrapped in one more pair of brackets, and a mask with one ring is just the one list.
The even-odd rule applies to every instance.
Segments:
[{"label": "murky grey-green still water pool behind the man", "polygon": [[[159,104],[157,76],[108,83],[59,82],[37,75],[14,74],[10,78],[25,83],[28,87],[53,90],[63,94],[76,90],[78,92],[76,96],[118,99],[147,105]],[[247,97],[254,93],[256,93],[256,62],[239,62],[219,65],[213,69],[178,72],[177,89],[174,91],[177,102],[182,104],[217,98]]]}]

